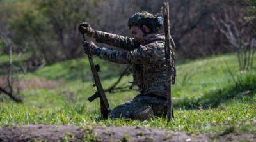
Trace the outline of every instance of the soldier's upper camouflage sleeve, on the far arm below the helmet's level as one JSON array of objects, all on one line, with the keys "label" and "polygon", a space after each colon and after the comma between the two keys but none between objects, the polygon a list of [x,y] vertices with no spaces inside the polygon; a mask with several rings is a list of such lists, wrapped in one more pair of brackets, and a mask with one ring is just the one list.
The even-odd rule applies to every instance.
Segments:
[{"label": "soldier's upper camouflage sleeve, on the far arm below the helmet's level", "polygon": [[107,45],[116,46],[124,50],[132,51],[136,47],[136,41],[134,38],[120,36],[117,34],[110,34],[102,31],[95,31],[95,39],[99,43],[105,43]]}]

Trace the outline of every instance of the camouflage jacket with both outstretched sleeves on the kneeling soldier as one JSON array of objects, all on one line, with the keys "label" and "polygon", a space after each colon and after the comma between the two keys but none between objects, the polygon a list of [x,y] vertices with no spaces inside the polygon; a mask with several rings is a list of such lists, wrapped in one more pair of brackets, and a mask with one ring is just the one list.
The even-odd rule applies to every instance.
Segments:
[{"label": "camouflage jacket with both outstretched sleeves on the kneeling soldier", "polygon": [[95,39],[124,50],[102,48],[99,57],[120,64],[132,64],[133,85],[138,86],[140,94],[166,97],[163,34],[152,34],[141,43],[136,43],[134,38],[96,31]]}]

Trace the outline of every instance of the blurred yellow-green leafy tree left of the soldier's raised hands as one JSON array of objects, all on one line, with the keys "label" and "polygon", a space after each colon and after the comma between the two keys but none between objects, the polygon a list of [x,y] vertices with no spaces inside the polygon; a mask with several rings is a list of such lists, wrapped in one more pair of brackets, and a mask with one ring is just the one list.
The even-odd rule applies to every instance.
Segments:
[{"label": "blurred yellow-green leafy tree left of the soldier's raised hands", "polygon": [[[20,3],[17,3],[20,4]],[[88,17],[90,1],[26,1],[10,29],[18,45],[28,45],[36,56],[48,62],[82,55],[77,25]],[[85,6],[85,7],[84,7]]]}]

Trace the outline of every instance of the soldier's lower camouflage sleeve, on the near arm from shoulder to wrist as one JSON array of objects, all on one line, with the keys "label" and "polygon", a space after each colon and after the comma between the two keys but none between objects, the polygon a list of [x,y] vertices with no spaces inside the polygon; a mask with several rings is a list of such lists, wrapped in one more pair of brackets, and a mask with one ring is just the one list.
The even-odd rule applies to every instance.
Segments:
[{"label": "soldier's lower camouflage sleeve, on the near arm from shoulder to wrist", "polygon": [[148,64],[164,60],[164,48],[157,47],[155,43],[136,48],[133,51],[118,51],[102,48],[99,57],[119,64]]}]

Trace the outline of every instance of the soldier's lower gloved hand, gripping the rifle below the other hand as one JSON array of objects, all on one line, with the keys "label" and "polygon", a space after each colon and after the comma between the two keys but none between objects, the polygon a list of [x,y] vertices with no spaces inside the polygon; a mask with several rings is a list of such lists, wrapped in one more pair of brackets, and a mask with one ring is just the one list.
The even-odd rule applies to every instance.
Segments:
[{"label": "soldier's lower gloved hand, gripping the rifle below the other hand", "polygon": [[100,54],[100,48],[93,43],[93,41],[84,41],[83,43],[84,52],[87,55],[99,55]]}]

